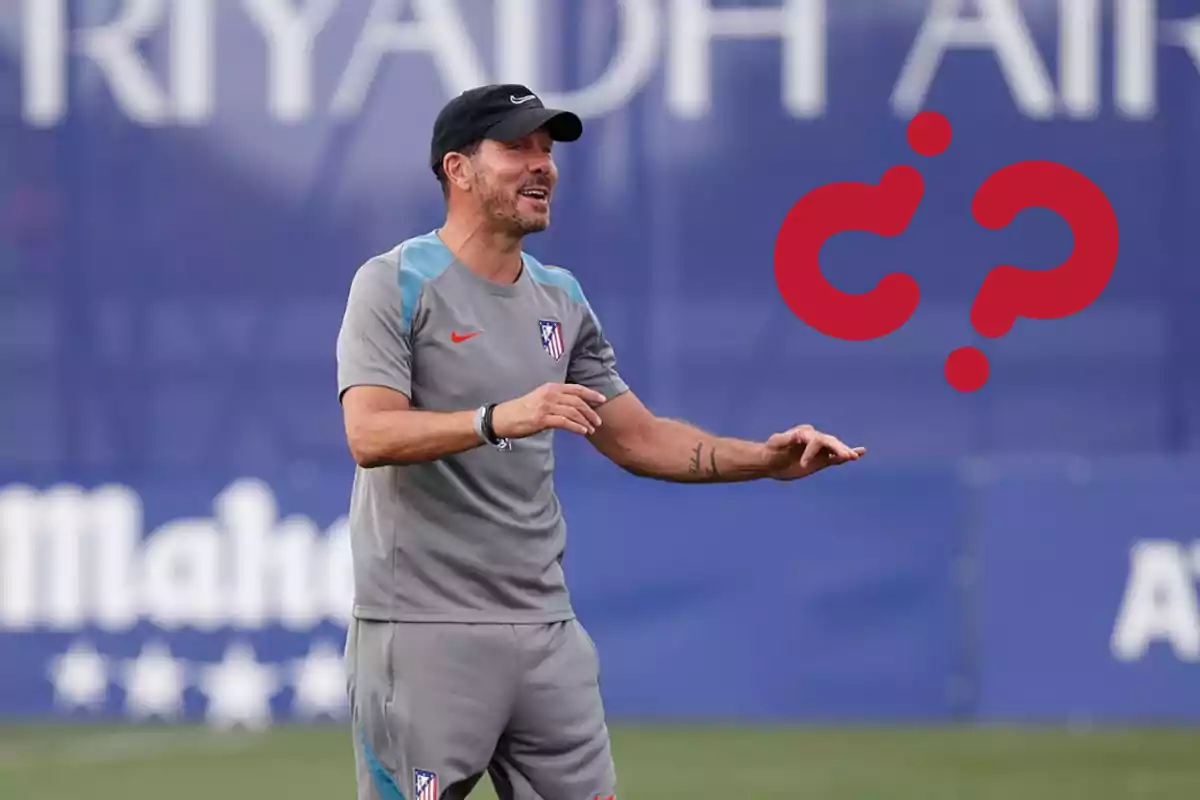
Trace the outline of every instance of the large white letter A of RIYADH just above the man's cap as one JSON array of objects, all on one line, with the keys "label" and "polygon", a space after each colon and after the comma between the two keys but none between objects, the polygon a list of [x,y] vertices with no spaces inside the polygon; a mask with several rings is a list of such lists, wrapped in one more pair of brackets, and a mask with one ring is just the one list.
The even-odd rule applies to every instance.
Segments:
[{"label": "large white letter A of RIYADH just above the man's cap", "polygon": [[374,0],[346,74],[334,95],[334,114],[362,110],[379,62],[389,52],[428,53],[448,95],[488,82],[482,59],[467,32],[457,0],[412,0],[419,22],[396,20],[404,0]]}]

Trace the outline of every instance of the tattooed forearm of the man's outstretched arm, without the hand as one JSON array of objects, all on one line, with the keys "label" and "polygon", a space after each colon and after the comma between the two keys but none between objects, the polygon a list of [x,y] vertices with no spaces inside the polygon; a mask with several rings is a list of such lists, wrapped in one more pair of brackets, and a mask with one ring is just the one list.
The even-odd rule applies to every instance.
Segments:
[{"label": "tattooed forearm of the man's outstretched arm, without the hand", "polygon": [[767,474],[761,443],[716,437],[662,417],[630,438],[620,465],[636,475],[679,483],[733,483]]}]

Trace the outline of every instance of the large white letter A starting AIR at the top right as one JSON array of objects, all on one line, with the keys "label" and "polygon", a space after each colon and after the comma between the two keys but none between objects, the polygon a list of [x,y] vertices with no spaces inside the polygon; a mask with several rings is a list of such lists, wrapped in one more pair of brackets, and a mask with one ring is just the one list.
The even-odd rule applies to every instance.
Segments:
[{"label": "large white letter A starting AIR at the top right", "polygon": [[892,94],[896,112],[920,110],[942,56],[954,48],[992,50],[1016,107],[1034,119],[1054,115],[1054,85],[1015,0],[978,2],[980,16],[964,19],[962,0],[932,1]]}]

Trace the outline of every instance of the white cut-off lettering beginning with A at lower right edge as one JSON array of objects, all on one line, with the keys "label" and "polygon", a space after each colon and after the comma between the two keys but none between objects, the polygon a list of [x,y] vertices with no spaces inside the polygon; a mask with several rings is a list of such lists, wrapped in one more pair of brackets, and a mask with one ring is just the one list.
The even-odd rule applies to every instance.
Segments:
[{"label": "white cut-off lettering beginning with A at lower right edge", "polygon": [[1181,661],[1200,661],[1200,542],[1189,555],[1172,541],[1138,542],[1129,579],[1112,630],[1112,655],[1138,661],[1154,642],[1165,642]]}]

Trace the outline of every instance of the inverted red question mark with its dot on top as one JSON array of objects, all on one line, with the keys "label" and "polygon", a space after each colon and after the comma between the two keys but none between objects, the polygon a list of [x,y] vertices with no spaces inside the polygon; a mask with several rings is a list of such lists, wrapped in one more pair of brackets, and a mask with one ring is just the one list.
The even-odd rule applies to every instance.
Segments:
[{"label": "inverted red question mark with its dot on top", "polygon": [[[950,144],[950,124],[923,112],[908,124],[908,144],[935,156]],[[848,294],[821,273],[821,247],[840,233],[896,236],[908,227],[925,193],[912,167],[893,167],[877,185],[854,181],[818,186],[788,210],[775,237],[775,284],[792,313],[826,336],[863,342],[887,336],[917,311],[920,288],[904,273],[884,276],[874,289]]]}]

